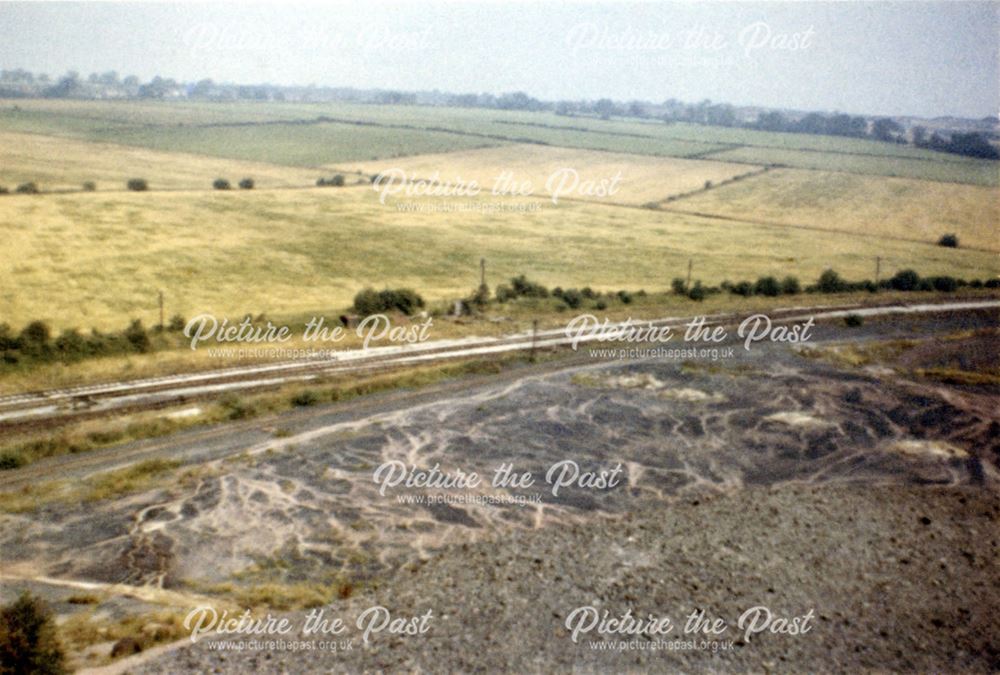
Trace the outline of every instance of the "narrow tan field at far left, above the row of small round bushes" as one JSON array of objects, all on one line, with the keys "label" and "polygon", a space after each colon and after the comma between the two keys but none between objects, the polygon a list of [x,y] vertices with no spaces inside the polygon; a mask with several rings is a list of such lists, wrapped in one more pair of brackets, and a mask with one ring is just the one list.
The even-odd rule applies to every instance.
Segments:
[{"label": "narrow tan field at far left, above the row of small round bushes", "polygon": [[303,187],[314,185],[321,175],[314,169],[263,162],[0,133],[0,185],[9,190],[29,181],[42,190],[78,190],[84,181],[94,181],[98,190],[123,190],[130,178],[145,178],[151,190],[208,190],[220,177],[229,180],[234,189],[245,177],[253,178],[258,187]]}]

